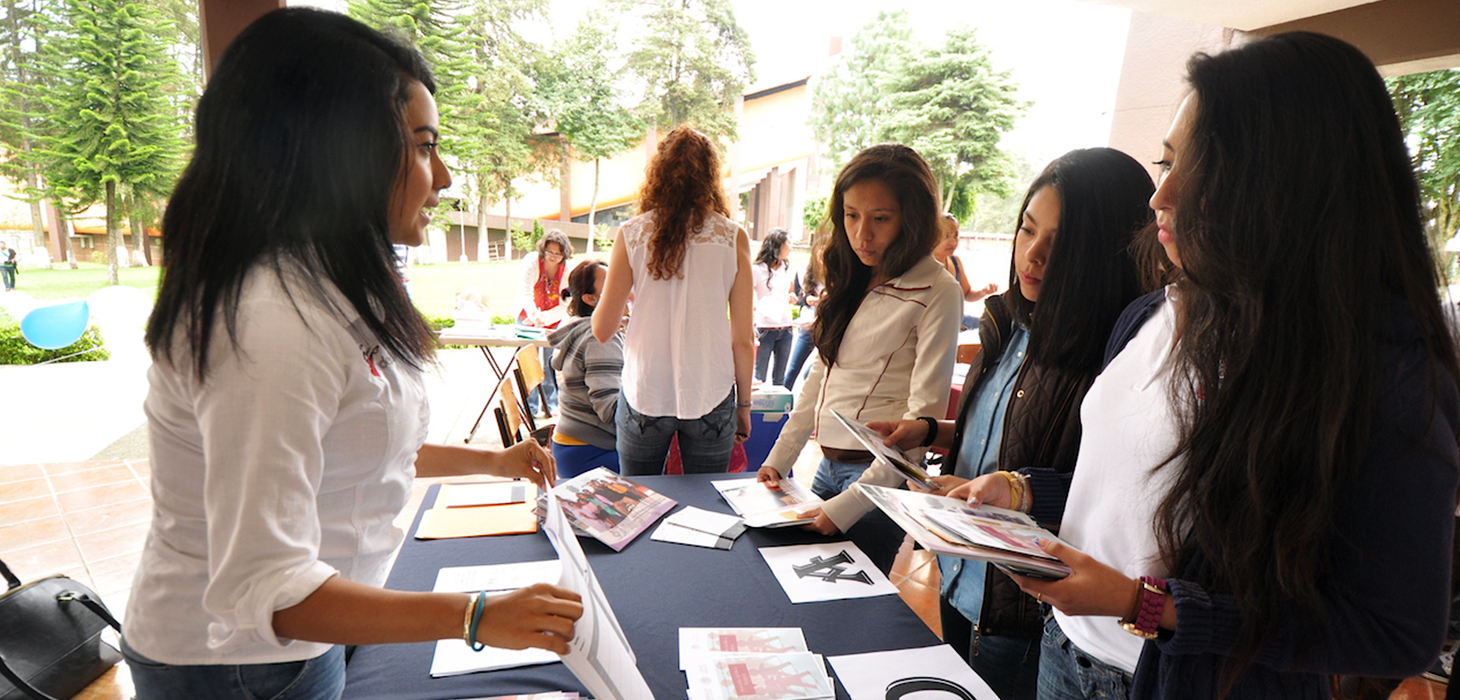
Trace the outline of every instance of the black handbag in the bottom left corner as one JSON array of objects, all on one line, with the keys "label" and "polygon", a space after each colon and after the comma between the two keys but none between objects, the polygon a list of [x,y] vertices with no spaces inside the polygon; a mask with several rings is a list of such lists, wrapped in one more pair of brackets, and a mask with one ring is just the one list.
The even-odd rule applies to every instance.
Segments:
[{"label": "black handbag in the bottom left corner", "polygon": [[0,700],[67,699],[121,661],[101,640],[121,624],[92,589],[64,576],[22,586],[4,561],[0,574]]}]

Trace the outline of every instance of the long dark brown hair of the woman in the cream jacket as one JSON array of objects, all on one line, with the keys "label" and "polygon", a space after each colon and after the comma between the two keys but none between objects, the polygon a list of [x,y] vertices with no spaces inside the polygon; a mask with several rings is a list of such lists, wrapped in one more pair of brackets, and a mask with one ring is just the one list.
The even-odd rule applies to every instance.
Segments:
[{"label": "long dark brown hair of the woman in the cream jacket", "polygon": [[822,284],[826,291],[816,310],[816,326],[812,332],[816,349],[828,365],[837,361],[842,336],[857,307],[861,305],[861,298],[867,295],[867,284],[872,282],[875,272],[863,265],[847,238],[842,205],[848,187],[869,180],[876,180],[892,190],[902,209],[902,231],[882,254],[880,270],[876,272],[889,278],[902,275],[933,254],[933,247],[943,238],[937,225],[937,215],[942,210],[937,200],[937,178],[917,151],[898,143],[882,143],[854,155],[847,167],[841,168],[828,205],[832,229],[822,254],[826,273]]}]

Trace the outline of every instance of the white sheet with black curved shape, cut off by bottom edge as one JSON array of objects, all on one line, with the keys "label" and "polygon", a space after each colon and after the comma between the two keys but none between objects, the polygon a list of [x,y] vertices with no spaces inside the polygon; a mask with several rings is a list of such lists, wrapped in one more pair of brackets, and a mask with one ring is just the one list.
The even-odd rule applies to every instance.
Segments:
[{"label": "white sheet with black curved shape, cut off by bottom edge", "polygon": [[948,644],[853,653],[828,661],[851,700],[904,696],[999,700],[988,684]]}]

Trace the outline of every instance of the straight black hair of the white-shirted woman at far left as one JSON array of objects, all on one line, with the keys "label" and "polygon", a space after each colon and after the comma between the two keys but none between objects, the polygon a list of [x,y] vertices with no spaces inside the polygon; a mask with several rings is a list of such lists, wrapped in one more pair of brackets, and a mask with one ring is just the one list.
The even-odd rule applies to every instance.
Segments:
[{"label": "straight black hair of the white-shirted woman at far left", "polygon": [[[388,209],[409,148],[410,82],[435,91],[420,54],[343,15],[280,9],[244,29],[197,105],[197,148],[162,219],[166,269],[147,324],[153,358],[182,333],[200,380],[222,316],[237,349],[248,272],[326,282],[396,357],[434,352],[396,276]],[[285,275],[285,265],[307,275]]]}]

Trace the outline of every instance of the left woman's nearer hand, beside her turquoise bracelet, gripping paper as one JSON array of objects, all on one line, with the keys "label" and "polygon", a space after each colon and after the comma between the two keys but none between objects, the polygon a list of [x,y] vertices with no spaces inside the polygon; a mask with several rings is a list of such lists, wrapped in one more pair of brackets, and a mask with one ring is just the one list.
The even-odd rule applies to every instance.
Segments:
[{"label": "left woman's nearer hand, beside her turquoise bracelet, gripping paper", "polygon": [[583,617],[583,598],[565,587],[534,583],[491,596],[476,639],[498,649],[546,649],[568,653],[572,621]]}]

